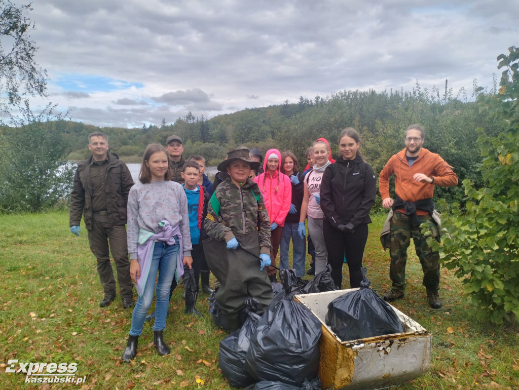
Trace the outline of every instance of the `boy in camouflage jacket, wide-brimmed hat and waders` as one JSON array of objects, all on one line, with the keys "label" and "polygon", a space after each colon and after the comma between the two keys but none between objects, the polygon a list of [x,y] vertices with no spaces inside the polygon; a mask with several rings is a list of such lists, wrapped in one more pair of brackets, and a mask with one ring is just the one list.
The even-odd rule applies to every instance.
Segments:
[{"label": "boy in camouflage jacket, wide-brimmed hat and waders", "polygon": [[230,177],[214,191],[204,220],[210,238],[226,242],[224,253],[216,254],[224,268],[223,277],[218,277],[221,287],[216,301],[231,330],[240,327],[239,313],[245,298],[257,299],[264,311],[273,297],[264,270],[270,265],[270,220],[260,188],[249,179],[250,170],[258,164],[249,159],[248,149],[228,152],[218,171],[227,171]]}]

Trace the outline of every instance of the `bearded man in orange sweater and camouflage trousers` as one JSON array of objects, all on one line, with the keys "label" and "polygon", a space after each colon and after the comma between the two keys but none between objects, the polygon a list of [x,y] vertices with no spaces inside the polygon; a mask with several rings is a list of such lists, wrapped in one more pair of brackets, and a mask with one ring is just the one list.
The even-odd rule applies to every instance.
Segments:
[{"label": "bearded man in orange sweater and camouflage trousers", "polygon": [[[379,189],[382,205],[392,208],[390,219],[391,266],[389,276],[392,289],[384,296],[386,301],[403,298],[405,290],[405,263],[407,248],[413,238],[416,255],[424,271],[423,284],[427,289],[429,305],[433,309],[442,307],[438,295],[440,288],[440,255],[427,244],[420,231],[426,223],[434,238],[440,241],[439,226],[432,215],[434,186],[450,187],[458,184],[458,177],[439,155],[422,148],[424,129],[413,124],[404,133],[405,148],[393,155],[379,175]],[[395,175],[394,201],[389,195],[389,178]]]}]

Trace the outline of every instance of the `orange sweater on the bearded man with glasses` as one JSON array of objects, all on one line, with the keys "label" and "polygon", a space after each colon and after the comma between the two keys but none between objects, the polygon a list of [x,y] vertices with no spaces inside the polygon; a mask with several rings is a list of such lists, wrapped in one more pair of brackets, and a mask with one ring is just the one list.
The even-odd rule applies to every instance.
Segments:
[{"label": "orange sweater on the bearded man with glasses", "polygon": [[[444,159],[427,149],[421,148],[420,154],[412,166],[409,166],[405,158],[406,149],[393,155],[379,175],[379,190],[382,199],[389,198],[389,178],[395,175],[395,192],[403,201],[416,202],[422,199],[432,198],[434,186],[450,187],[458,184],[458,176],[453,172],[452,166]],[[424,173],[434,178],[434,183],[421,183],[413,180],[415,173]],[[417,211],[417,214],[427,212]]]}]

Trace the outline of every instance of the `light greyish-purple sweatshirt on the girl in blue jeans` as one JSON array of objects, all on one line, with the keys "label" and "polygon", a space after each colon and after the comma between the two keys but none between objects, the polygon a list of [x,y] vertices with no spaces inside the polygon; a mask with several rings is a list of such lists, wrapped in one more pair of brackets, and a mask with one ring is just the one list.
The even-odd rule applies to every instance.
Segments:
[{"label": "light greyish-purple sweatshirt on the girl in blue jeans", "polygon": [[191,256],[191,235],[187,198],[179,183],[162,180],[148,184],[136,183],[128,194],[128,253],[137,258],[139,231],[144,229],[158,233],[160,221],[171,226],[179,225],[182,234],[184,257]]}]

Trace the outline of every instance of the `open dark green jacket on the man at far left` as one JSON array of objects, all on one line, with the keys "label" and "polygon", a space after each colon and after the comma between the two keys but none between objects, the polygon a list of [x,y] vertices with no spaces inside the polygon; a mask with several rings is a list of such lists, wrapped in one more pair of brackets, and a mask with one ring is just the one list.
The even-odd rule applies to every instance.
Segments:
[{"label": "open dark green jacket on the man at far left", "polygon": [[[105,176],[106,211],[112,226],[125,225],[127,219],[126,206],[128,193],[133,186],[128,166],[117,157],[107,152],[108,166]],[[81,214],[87,229],[91,229],[92,221],[92,180],[90,163],[92,156],[77,163],[74,185],[70,194],[70,226],[78,226]]]}]

